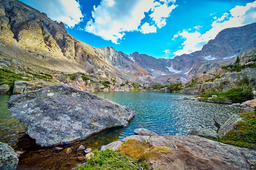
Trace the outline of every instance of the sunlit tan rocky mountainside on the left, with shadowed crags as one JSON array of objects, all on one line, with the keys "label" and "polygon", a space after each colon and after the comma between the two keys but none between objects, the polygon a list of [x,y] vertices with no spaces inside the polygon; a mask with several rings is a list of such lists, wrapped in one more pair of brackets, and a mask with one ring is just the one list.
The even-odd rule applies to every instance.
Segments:
[{"label": "sunlit tan rocky mountainside on the left, with shadowed crags", "polygon": [[120,57],[115,49],[94,48],[75,39],[63,23],[52,21],[22,2],[0,0],[0,17],[2,52],[19,55],[24,62],[32,60],[33,64],[59,71],[101,70],[124,79],[129,79],[132,71],[141,69]]}]

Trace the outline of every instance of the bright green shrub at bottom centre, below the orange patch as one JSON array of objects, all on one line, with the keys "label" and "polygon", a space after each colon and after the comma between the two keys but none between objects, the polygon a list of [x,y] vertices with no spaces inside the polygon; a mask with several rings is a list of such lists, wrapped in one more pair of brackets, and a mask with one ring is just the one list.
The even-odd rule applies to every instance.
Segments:
[{"label": "bright green shrub at bottom centre, below the orange patch", "polygon": [[148,170],[148,165],[122,154],[107,149],[104,152],[93,151],[94,156],[88,159],[85,166],[79,166],[77,170],[137,170],[143,167]]}]

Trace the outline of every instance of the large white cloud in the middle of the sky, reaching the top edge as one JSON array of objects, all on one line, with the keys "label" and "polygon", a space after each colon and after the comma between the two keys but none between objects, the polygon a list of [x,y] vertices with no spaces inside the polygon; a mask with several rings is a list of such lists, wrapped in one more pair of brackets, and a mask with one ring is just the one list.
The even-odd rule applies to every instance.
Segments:
[{"label": "large white cloud in the middle of the sky, reaching the top edge", "polygon": [[[166,25],[166,18],[176,7],[169,5],[175,0],[102,0],[92,11],[92,19],[85,26],[85,31],[120,44],[126,32],[140,31],[155,33],[157,27]],[[161,11],[159,10],[167,10]],[[141,23],[145,13],[150,14],[150,23]]]}]

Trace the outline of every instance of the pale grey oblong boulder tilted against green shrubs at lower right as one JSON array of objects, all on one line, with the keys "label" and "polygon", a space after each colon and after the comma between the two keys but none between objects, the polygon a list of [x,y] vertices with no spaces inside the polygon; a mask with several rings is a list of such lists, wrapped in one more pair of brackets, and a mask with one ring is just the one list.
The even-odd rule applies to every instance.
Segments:
[{"label": "pale grey oblong boulder tilted against green shrubs at lower right", "polygon": [[231,129],[234,128],[234,125],[238,122],[241,121],[242,117],[239,115],[232,115],[227,119],[227,121],[220,126],[220,129],[218,130],[218,135],[219,137],[225,136]]}]

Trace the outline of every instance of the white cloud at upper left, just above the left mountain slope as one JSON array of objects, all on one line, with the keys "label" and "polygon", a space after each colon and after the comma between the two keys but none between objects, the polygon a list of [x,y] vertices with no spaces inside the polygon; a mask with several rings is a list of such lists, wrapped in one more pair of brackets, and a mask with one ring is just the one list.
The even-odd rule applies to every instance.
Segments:
[{"label": "white cloud at upper left, just above the left mountain slope", "polygon": [[21,0],[29,6],[44,12],[52,20],[63,22],[72,28],[83,20],[81,6],[76,0]]}]

